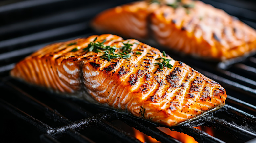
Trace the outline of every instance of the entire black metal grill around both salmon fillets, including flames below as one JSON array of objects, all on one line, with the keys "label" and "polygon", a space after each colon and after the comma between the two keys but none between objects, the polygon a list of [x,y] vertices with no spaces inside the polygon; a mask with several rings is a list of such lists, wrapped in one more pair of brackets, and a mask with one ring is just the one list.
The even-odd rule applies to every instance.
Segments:
[{"label": "entire black metal grill around both salmon fillets, including flames below", "polygon": [[[175,60],[219,82],[228,94],[226,105],[220,110],[169,129],[24,84],[8,75],[16,62],[47,44],[100,34],[90,28],[90,19],[106,8],[130,1],[0,2],[0,136],[3,142],[189,142],[182,140],[187,136],[197,142],[255,141],[256,55],[216,63],[192,60],[165,50]],[[256,28],[256,2],[203,1]],[[144,140],[138,134],[142,134]]]}]

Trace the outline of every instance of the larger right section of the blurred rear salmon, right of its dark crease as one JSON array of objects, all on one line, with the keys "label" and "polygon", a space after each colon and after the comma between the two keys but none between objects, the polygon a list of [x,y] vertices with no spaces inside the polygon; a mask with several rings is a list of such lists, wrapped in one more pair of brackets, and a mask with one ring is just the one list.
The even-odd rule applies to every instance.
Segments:
[{"label": "larger right section of the blurred rear salmon, right of its dark crease", "polygon": [[161,45],[220,61],[256,50],[253,28],[201,1],[190,3],[194,8],[165,5],[153,12],[151,29]]}]

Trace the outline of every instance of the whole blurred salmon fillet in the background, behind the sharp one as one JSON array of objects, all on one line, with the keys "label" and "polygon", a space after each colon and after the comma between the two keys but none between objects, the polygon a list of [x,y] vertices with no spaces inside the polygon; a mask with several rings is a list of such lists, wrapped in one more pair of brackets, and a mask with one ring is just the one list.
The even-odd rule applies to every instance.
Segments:
[{"label": "whole blurred salmon fillet in the background, behind the sharp one", "polygon": [[[256,51],[256,31],[237,18],[201,1],[173,2],[142,1],[118,6],[96,16],[92,26],[103,32],[118,30],[125,37],[152,36],[168,49],[216,61]],[[143,12],[138,10],[142,5]]]}]

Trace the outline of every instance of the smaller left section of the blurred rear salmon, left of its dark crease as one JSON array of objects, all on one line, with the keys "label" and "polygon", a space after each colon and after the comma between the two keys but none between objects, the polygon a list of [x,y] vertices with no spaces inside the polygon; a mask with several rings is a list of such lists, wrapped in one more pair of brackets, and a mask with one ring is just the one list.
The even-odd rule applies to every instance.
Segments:
[{"label": "smaller left section of the blurred rear salmon, left of its dark crease", "polygon": [[92,21],[96,31],[122,35],[126,38],[146,39],[149,35],[148,16],[159,8],[157,3],[138,1],[105,10]]}]

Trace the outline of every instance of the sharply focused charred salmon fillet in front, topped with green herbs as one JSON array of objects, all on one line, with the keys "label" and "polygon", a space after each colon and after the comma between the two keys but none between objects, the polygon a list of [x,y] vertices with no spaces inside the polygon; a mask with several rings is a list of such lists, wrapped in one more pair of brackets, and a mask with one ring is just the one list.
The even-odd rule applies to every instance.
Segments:
[{"label": "sharply focused charred salmon fillet in front, topped with green herbs", "polygon": [[[93,41],[115,46],[116,53],[130,43],[131,57],[108,61],[103,53],[85,51]],[[173,67],[160,68],[155,64],[160,56],[164,54],[158,49],[134,39],[94,35],[46,46],[17,63],[11,76],[166,126],[225,105],[227,95],[220,84],[168,55]]]}]

